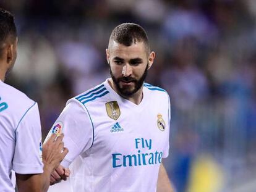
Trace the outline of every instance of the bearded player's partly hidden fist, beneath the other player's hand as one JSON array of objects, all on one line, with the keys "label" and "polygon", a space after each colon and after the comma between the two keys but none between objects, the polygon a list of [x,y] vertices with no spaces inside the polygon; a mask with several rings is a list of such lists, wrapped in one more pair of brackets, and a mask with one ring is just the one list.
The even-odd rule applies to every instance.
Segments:
[{"label": "bearded player's partly hidden fist, beneath the other player's hand", "polygon": [[67,177],[70,175],[70,170],[68,168],[59,165],[59,167],[51,173],[50,185],[61,182],[61,180],[66,181]]}]

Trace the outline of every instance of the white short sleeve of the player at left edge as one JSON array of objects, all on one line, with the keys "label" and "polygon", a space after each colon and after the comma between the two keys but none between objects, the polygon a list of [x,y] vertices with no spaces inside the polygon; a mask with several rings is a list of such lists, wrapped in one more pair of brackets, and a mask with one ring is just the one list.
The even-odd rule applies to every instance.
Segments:
[{"label": "white short sleeve of the player at left edge", "polygon": [[41,123],[36,102],[20,119],[15,130],[15,151],[12,167],[16,173],[43,173],[41,162]]}]

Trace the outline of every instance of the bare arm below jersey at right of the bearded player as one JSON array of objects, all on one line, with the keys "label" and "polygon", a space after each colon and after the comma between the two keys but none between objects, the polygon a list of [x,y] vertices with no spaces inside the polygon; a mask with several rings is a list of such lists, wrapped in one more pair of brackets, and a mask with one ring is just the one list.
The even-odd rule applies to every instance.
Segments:
[{"label": "bare arm below jersey at right of the bearded player", "polygon": [[163,164],[160,165],[156,191],[157,192],[174,192],[173,186],[171,185],[168,174]]}]

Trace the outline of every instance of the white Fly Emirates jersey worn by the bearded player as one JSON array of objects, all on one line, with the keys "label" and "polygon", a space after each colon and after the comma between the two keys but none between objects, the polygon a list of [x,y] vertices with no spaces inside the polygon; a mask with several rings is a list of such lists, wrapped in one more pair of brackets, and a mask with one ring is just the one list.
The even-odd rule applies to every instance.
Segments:
[{"label": "white Fly Emirates jersey worn by the bearded player", "polygon": [[143,99],[136,105],[108,81],[67,101],[48,137],[64,133],[69,149],[64,167],[79,156],[71,170],[71,191],[155,192],[169,151],[168,93],[144,83]]}]

